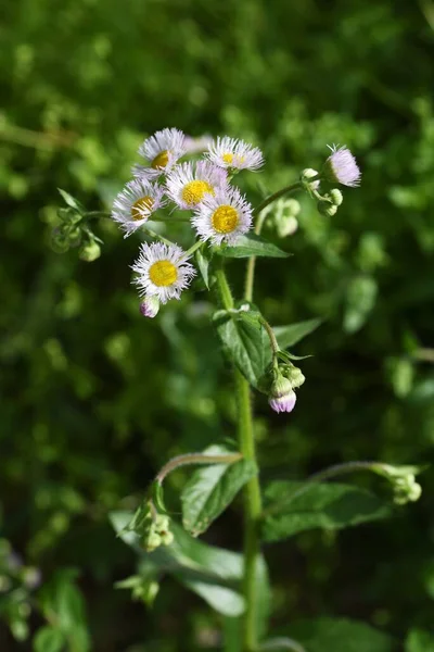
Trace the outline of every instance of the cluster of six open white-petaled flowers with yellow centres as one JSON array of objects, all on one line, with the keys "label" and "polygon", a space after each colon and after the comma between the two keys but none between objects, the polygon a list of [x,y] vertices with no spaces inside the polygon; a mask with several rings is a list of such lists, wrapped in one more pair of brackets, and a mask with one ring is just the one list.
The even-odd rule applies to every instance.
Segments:
[{"label": "cluster of six open white-petaled flowers with yellow centres", "polygon": [[[181,161],[190,153],[204,151],[203,159]],[[195,275],[189,262],[202,242],[233,244],[252,226],[252,205],[230,179],[240,170],[258,170],[264,158],[258,148],[229,138],[199,141],[176,128],[166,128],[148,138],[139,148],[143,165],[132,167],[132,180],[116,197],[112,217],[125,237],[149,221],[158,221],[158,209],[171,204],[190,211],[197,241],[188,251],[163,239],[142,243],[132,265],[133,283],[142,297],[141,313],[154,317],[161,303],[179,299]]]}]

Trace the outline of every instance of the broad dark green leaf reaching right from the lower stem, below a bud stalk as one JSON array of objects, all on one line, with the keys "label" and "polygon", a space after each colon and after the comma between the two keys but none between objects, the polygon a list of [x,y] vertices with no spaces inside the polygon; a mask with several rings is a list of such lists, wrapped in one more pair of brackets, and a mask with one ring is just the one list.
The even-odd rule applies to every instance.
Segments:
[{"label": "broad dark green leaf reaching right from the lower stem, below a bud stalk", "polygon": [[279,541],[316,527],[341,529],[391,514],[388,504],[350,485],[276,481],[268,486],[266,497],[266,541]]}]

